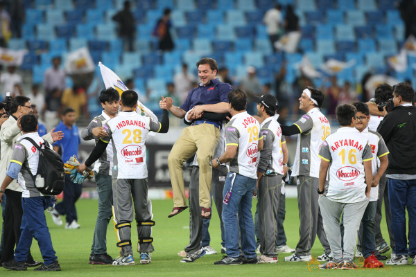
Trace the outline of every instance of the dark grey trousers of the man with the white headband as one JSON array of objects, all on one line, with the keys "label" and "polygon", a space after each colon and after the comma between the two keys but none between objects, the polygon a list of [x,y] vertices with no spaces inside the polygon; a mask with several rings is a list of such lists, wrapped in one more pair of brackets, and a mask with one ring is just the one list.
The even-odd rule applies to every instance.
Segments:
[{"label": "dark grey trousers of the man with the white headband", "polygon": [[325,235],[322,215],[318,204],[319,179],[309,176],[297,176],[297,206],[300,217],[300,238],[295,253],[300,256],[311,255],[316,235],[324,247],[325,253],[331,253],[327,235]]}]

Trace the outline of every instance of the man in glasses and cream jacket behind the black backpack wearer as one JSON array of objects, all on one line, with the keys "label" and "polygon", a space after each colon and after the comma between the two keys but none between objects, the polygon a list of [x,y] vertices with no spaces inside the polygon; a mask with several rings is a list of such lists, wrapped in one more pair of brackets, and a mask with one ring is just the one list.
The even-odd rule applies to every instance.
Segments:
[{"label": "man in glasses and cream jacket behind the black backpack wearer", "polygon": [[[6,171],[12,158],[15,142],[22,135],[20,130],[20,118],[25,114],[31,114],[31,101],[25,96],[16,96],[10,102],[10,117],[1,125],[0,131],[0,145],[1,145],[1,160],[0,160],[0,179],[6,177]],[[43,139],[49,143],[62,139],[62,132],[53,132],[46,134]],[[1,262],[8,262],[13,259],[13,249],[15,244],[19,242],[20,238],[20,224],[21,216],[23,214],[21,208],[21,187],[17,181],[12,181],[8,188],[1,193],[5,193],[7,197],[5,218],[4,218],[4,238],[3,238],[3,253],[1,254]],[[31,257],[30,257],[31,258]],[[28,259],[29,260],[29,259]],[[28,266],[40,265],[39,262],[34,262],[33,258],[28,261]]]}]

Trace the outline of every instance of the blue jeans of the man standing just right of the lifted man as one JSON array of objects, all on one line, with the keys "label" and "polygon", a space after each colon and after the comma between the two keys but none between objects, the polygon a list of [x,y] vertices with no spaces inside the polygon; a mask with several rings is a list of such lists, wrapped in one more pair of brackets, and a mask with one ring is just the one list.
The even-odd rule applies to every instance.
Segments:
[{"label": "blue jeans of the man standing just right of the lifted man", "polygon": [[[229,172],[225,180],[223,197],[232,192],[228,203],[223,204],[223,222],[225,231],[225,247],[227,256],[238,258],[239,226],[241,232],[241,251],[246,258],[256,257],[256,236],[251,212],[252,197],[257,179]],[[239,216],[237,220],[237,214]]]}]

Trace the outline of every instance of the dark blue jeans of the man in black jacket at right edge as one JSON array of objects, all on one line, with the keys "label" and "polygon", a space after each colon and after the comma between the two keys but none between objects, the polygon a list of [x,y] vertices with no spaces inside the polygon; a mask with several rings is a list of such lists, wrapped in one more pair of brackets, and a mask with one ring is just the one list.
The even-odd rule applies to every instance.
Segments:
[{"label": "dark blue jeans of the man in black jacket at right edge", "polygon": [[[396,255],[416,256],[416,179],[388,178],[388,201],[392,212],[392,231]],[[406,237],[406,208],[409,215],[409,248]]]}]

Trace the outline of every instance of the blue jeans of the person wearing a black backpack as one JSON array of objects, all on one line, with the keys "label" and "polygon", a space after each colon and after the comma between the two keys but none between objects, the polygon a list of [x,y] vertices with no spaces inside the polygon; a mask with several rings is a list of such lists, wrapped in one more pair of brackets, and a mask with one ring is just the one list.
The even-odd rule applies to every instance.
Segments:
[{"label": "blue jeans of the person wearing a black backpack", "polygon": [[21,217],[20,239],[15,250],[16,262],[27,260],[33,238],[37,240],[45,265],[51,265],[58,259],[52,247],[51,234],[44,213],[44,210],[51,204],[52,197],[50,196],[21,198],[23,216]]}]

